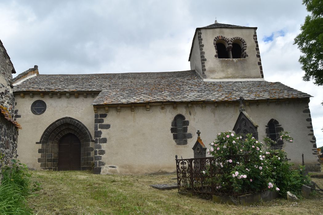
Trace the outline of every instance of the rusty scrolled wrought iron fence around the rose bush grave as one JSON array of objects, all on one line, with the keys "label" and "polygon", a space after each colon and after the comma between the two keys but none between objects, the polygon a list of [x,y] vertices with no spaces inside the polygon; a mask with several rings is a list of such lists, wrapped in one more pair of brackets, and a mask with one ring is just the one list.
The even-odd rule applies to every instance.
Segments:
[{"label": "rusty scrolled wrought iron fence around the rose bush grave", "polygon": [[[276,154],[271,154],[276,155]],[[177,185],[178,192],[192,193],[199,195],[205,199],[211,199],[212,195],[238,196],[256,191],[236,193],[233,191],[230,181],[226,181],[226,189],[221,189],[223,182],[220,178],[223,174],[227,174],[226,168],[221,168],[219,161],[221,160],[235,160],[239,162],[246,162],[249,155],[230,155],[225,158],[189,158],[177,159],[176,156],[176,171],[177,171]],[[285,160],[285,159],[282,159]],[[226,163],[226,165],[230,165]],[[231,165],[234,165],[233,163]],[[207,174],[203,174],[207,171]]]}]

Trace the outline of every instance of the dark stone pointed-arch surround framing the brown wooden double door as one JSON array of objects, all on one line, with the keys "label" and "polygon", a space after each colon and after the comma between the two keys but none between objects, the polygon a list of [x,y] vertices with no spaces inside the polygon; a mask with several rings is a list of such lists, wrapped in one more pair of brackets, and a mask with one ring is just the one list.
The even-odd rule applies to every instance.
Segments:
[{"label": "dark stone pointed-arch surround framing the brown wooden double door", "polygon": [[59,140],[68,133],[76,135],[81,142],[81,170],[92,169],[94,158],[91,156],[91,151],[93,151],[93,148],[90,147],[91,133],[82,122],[71,117],[63,117],[50,124],[45,129],[40,141],[36,142],[41,144],[41,148],[38,149],[38,153],[40,153],[38,162],[41,169],[58,169]]}]

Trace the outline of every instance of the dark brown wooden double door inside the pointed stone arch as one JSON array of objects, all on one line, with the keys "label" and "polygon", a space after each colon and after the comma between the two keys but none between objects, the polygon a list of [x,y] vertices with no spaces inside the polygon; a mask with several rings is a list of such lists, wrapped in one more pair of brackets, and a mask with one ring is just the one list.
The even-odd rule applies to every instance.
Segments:
[{"label": "dark brown wooden double door inside the pointed stone arch", "polygon": [[71,133],[58,144],[58,171],[63,170],[81,170],[81,142]]}]

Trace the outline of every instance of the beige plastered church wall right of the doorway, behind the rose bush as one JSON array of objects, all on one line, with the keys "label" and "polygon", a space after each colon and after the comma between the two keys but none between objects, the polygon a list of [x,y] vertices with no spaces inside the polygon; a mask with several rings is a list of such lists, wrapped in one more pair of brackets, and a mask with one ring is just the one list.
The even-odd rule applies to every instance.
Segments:
[{"label": "beige plastered church wall right of the doorway, behind the rose bush", "polygon": [[[306,165],[317,164],[317,157],[312,154],[313,143],[310,142],[312,133],[309,122],[306,121],[308,113],[307,102],[298,103],[296,100],[281,102],[261,102],[257,106],[250,103],[246,106],[247,112],[258,123],[259,139],[266,137],[266,124],[269,120],[276,119],[294,138],[293,143],[284,143],[283,149],[287,151],[288,158],[296,164],[301,164],[302,153]],[[98,108],[98,113],[105,113],[104,108]],[[177,114],[185,116],[189,121],[188,133],[193,138],[188,139],[187,145],[176,145],[170,131],[171,122]],[[111,127],[102,131],[102,137],[107,138],[107,143],[102,144],[105,154],[102,161],[105,167],[101,174],[140,174],[153,172],[174,172],[175,155],[179,158],[192,158],[192,147],[196,142],[196,131],[200,130],[204,144],[209,148],[217,133],[232,130],[239,114],[238,104],[219,103],[214,104],[179,104],[177,109],[172,105],[165,105],[161,110],[160,106],[151,106],[147,111],[146,107],[135,107],[131,112],[130,107],[122,107],[121,112],[116,108],[109,108],[108,116],[104,123]],[[116,168],[109,168],[113,166]]]}]

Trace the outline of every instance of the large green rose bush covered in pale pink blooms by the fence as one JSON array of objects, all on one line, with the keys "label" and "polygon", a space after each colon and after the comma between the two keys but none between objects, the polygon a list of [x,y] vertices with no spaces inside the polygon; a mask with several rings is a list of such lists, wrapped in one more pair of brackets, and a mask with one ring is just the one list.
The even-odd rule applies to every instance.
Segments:
[{"label": "large green rose bush covered in pale pink blooms by the fence", "polygon": [[[287,132],[281,138],[292,142]],[[213,176],[211,180],[219,193],[231,193],[234,196],[242,193],[271,190],[300,193],[302,184],[309,182],[303,177],[300,170],[291,170],[291,163],[286,160],[283,150],[271,150],[266,144],[272,141],[265,138],[266,143],[256,140],[251,134],[246,138],[236,135],[231,131],[217,135],[214,142],[210,143],[211,154],[215,163],[213,169],[223,174]],[[209,175],[209,170],[203,171]]]}]

